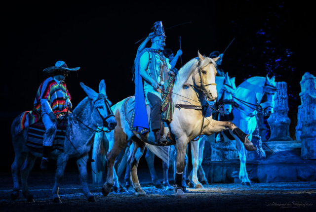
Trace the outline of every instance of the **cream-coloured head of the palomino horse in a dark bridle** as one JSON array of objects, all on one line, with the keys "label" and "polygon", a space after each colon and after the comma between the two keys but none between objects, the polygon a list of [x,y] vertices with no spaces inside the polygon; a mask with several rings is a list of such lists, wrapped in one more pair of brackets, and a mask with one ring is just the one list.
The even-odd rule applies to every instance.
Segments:
[{"label": "cream-coloured head of the palomino horse in a dark bridle", "polygon": [[205,94],[207,101],[215,101],[217,90],[215,84],[215,61],[209,57],[203,57],[198,51],[197,71],[194,73],[194,84]]}]

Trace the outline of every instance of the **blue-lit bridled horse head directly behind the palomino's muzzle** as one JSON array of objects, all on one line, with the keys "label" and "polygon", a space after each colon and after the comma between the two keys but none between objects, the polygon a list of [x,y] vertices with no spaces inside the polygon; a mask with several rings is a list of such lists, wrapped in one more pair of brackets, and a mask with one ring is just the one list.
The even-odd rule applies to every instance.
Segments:
[{"label": "blue-lit bridled horse head directly behind the palomino's muzzle", "polygon": [[228,73],[226,73],[222,89],[218,93],[218,104],[223,105],[224,114],[230,114],[232,112],[232,104],[234,103],[233,95],[236,93],[236,90],[235,77],[230,79]]}]

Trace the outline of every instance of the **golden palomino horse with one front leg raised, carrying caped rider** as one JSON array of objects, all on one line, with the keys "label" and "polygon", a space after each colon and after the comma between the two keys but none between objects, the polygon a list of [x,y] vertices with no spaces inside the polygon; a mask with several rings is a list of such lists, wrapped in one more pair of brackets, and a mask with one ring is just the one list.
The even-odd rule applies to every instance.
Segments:
[{"label": "golden palomino horse with one front leg raised, carrying caped rider", "polygon": [[[187,144],[199,134],[210,135],[225,129],[231,129],[244,141],[247,149],[255,150],[253,144],[247,139],[248,135],[243,133],[233,123],[213,120],[210,112],[207,117],[204,116],[204,111],[210,110],[207,101],[214,101],[217,97],[215,86],[216,68],[214,64],[214,60],[203,57],[198,53],[197,58],[190,60],[183,66],[174,83],[172,100],[175,109],[173,121],[169,124],[169,127],[176,142],[177,159],[174,191],[178,198],[185,198],[182,187],[182,174],[185,167],[184,160]],[[154,143],[154,133],[151,131],[144,137],[129,129],[129,125],[123,114],[121,114],[121,110],[118,109],[121,108],[124,102],[125,100],[122,100],[116,104],[115,119],[118,122],[118,126],[114,129],[113,148],[107,154],[108,175],[107,181],[102,187],[104,196],[109,194],[114,184],[113,166],[115,159],[130,139],[134,142],[133,153],[129,157],[133,187],[136,195],[146,195],[138,181],[137,165],[145,150],[145,142]],[[148,147],[150,146],[148,145]],[[167,160],[168,158],[165,161]]]}]

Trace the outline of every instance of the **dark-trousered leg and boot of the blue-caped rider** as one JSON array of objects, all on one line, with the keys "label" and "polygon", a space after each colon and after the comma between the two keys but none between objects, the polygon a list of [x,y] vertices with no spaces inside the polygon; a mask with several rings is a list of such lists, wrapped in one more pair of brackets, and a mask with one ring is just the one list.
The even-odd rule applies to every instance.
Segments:
[{"label": "dark-trousered leg and boot of the blue-caped rider", "polygon": [[151,104],[151,114],[150,114],[150,118],[151,118],[151,127],[152,130],[155,134],[155,142],[160,144],[160,143],[165,143],[167,142],[167,140],[163,137],[160,137],[160,127],[161,127],[161,99],[151,93],[148,92],[147,93],[147,98],[149,103]]}]

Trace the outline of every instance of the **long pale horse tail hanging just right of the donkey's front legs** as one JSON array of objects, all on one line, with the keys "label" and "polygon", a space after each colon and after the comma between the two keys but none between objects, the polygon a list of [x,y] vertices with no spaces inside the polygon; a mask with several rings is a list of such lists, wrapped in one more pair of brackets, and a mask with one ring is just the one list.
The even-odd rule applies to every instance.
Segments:
[{"label": "long pale horse tail hanging just right of the donkey's front legs", "polygon": [[94,135],[92,159],[94,163],[91,164],[93,183],[102,183],[102,174],[106,168],[106,154],[109,149],[109,142],[104,132],[96,132]]}]

